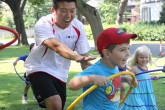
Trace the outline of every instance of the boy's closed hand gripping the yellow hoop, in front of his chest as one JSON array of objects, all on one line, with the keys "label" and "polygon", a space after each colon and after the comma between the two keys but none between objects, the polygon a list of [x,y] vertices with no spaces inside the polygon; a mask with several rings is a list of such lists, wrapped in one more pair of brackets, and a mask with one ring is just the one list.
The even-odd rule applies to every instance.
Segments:
[{"label": "boy's closed hand gripping the yellow hoop, in front of his chest", "polygon": [[94,84],[98,85],[99,87],[105,86],[108,82],[109,79],[105,76],[101,76],[101,75],[95,75],[93,77],[93,81]]}]

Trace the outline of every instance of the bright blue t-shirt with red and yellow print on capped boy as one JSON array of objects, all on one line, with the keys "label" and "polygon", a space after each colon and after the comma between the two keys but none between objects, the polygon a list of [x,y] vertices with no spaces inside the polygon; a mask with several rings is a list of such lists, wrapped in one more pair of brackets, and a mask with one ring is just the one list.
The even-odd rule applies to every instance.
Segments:
[{"label": "bright blue t-shirt with red and yellow print on capped boy", "polygon": [[[85,69],[83,72],[77,74],[78,76],[87,75],[103,75],[110,76],[112,74],[118,73],[119,69],[110,68],[99,61],[97,61],[92,66]],[[89,89],[94,84],[91,83],[83,87],[83,92]],[[109,80],[109,83],[103,87],[97,87],[87,96],[83,98],[82,110],[118,110],[118,105],[120,101],[120,76]]]}]

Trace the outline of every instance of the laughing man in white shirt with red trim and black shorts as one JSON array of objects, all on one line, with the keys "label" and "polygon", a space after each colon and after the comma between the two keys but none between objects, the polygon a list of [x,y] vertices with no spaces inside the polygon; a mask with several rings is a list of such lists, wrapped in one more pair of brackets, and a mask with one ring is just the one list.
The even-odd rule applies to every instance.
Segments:
[{"label": "laughing man in white shirt with red trim and black shorts", "polygon": [[61,110],[70,60],[80,62],[85,69],[94,58],[88,57],[85,29],[75,18],[76,0],[53,0],[51,11],[34,27],[36,45],[25,62],[25,70],[37,101],[44,101],[48,110]]}]

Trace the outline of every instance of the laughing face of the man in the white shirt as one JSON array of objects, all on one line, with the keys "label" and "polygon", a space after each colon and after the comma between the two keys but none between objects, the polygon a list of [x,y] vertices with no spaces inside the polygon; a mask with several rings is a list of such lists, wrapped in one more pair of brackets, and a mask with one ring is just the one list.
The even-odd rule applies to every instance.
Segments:
[{"label": "laughing face of the man in the white shirt", "polygon": [[76,15],[75,2],[59,2],[58,9],[52,9],[52,12],[55,15],[55,24],[59,28],[65,29],[70,25]]}]

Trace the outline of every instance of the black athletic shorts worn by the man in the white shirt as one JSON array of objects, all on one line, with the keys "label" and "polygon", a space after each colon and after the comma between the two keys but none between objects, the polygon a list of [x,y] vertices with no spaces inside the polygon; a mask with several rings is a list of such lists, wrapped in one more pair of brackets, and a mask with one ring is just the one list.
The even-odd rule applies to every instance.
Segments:
[{"label": "black athletic shorts worn by the man in the white shirt", "polygon": [[66,83],[44,72],[33,73],[28,78],[38,103],[43,102],[44,99],[50,96],[60,95],[62,107],[64,107],[66,101]]}]

